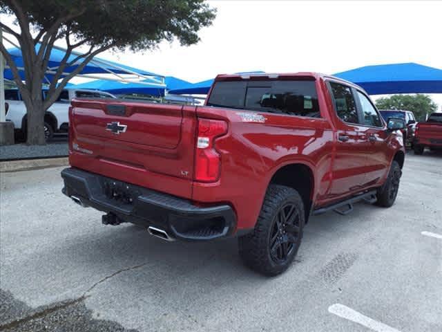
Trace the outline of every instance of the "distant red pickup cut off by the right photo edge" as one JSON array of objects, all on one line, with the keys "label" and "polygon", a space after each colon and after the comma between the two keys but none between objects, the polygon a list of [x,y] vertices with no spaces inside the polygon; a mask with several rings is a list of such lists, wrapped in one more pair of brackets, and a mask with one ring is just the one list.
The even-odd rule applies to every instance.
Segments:
[{"label": "distant red pickup cut off by the right photo edge", "polygon": [[423,154],[425,147],[442,149],[442,113],[432,113],[426,122],[419,122],[414,131],[414,154]]}]

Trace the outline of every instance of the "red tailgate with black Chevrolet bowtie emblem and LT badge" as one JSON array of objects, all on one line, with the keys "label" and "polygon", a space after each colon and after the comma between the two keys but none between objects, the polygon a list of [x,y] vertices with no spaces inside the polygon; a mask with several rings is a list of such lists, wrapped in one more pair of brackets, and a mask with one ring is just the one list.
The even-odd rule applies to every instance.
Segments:
[{"label": "red tailgate with black Chevrolet bowtie emblem and LT badge", "polygon": [[70,165],[191,198],[195,107],[74,100]]}]

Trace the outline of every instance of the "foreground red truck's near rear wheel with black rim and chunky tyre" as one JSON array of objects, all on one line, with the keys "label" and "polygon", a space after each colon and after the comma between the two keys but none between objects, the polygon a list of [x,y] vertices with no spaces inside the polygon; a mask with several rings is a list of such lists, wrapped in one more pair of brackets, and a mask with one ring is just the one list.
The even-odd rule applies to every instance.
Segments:
[{"label": "foreground red truck's near rear wheel with black rim and chunky tyre", "polygon": [[298,252],[304,223],[300,194],[290,187],[270,185],[253,233],[238,239],[240,257],[263,275],[279,275]]}]

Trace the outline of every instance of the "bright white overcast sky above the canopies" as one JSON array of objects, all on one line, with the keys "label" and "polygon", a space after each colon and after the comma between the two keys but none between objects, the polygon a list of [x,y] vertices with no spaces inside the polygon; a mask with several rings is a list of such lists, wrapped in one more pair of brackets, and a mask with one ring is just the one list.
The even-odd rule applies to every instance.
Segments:
[{"label": "bright white overcast sky above the canopies", "polygon": [[[208,2],[218,14],[198,44],[100,57],[191,82],[218,73],[332,74],[400,62],[442,68],[442,1]],[[442,95],[432,98],[441,107]]]}]

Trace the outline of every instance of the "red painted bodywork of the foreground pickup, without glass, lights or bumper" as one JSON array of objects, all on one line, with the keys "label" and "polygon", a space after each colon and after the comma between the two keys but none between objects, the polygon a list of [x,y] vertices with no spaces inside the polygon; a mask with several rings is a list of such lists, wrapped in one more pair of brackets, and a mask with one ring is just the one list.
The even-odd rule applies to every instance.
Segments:
[{"label": "red painted bodywork of the foreground pickup, without glass, lights or bumper", "polygon": [[[245,122],[238,113],[247,110],[129,102],[120,102],[126,105],[125,116],[110,116],[105,111],[109,102],[74,101],[70,164],[198,204],[228,203],[236,212],[238,229],[253,228],[272,176],[285,165],[311,169],[310,199],[316,208],[382,185],[394,155],[404,151],[401,133],[342,122],[323,75],[279,77],[316,80],[322,118],[259,113],[265,122]],[[230,79],[241,78],[223,75],[216,80]],[[215,140],[221,158],[215,183],[193,180],[198,118],[228,124],[228,132]],[[118,137],[106,132],[106,123],[112,121],[127,124],[128,131]],[[347,142],[338,142],[341,133],[349,136]]]}]

